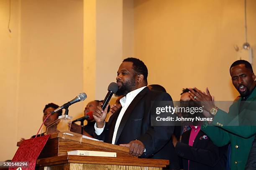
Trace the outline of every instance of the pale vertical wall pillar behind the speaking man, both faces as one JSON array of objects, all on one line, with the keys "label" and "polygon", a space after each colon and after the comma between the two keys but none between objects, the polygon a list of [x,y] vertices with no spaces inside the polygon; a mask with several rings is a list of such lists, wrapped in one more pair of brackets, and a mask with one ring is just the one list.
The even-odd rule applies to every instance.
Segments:
[{"label": "pale vertical wall pillar behind the speaking man, both faces", "polygon": [[[88,101],[103,100],[123,52],[123,3],[84,0],[84,90]],[[110,101],[113,103],[115,97]]]}]

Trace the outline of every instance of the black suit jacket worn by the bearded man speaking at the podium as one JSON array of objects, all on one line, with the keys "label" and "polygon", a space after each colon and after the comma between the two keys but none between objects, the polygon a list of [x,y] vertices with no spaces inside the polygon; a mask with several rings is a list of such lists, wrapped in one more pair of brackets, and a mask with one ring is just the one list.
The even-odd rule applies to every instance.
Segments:
[{"label": "black suit jacket worn by the bearded man speaking at the podium", "polygon": [[[179,158],[172,144],[174,126],[151,126],[151,101],[172,101],[172,97],[165,92],[154,92],[145,87],[136,95],[128,106],[118,127],[115,144],[129,143],[140,140],[146,148],[142,158],[170,160],[172,169],[179,169]],[[95,137],[112,143],[115,123],[120,110],[109,119],[102,134]]]}]

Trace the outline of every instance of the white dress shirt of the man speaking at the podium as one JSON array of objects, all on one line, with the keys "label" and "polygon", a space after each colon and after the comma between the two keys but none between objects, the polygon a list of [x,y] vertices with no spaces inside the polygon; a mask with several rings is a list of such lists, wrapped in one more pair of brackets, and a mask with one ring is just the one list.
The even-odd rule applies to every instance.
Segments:
[{"label": "white dress shirt of the man speaking at the podium", "polygon": [[[120,113],[118,115],[118,119],[116,120],[116,123],[115,123],[115,130],[114,130],[114,133],[113,133],[112,144],[115,144],[115,138],[116,138],[116,134],[117,134],[117,131],[118,131],[118,127],[120,125],[120,122],[121,122],[121,120],[123,118],[123,115],[124,115],[126,109],[131,104],[131,102],[136,97],[136,95],[138,95],[138,93],[141,92],[145,87],[146,86],[143,86],[141,88],[133,90],[133,91],[129,92],[125,97],[120,99],[120,103],[122,105],[122,109],[121,109],[121,111],[120,111]],[[104,124],[103,128],[97,128],[97,125],[95,123],[94,128],[95,128],[95,133],[97,135],[100,135],[103,132],[104,128],[105,128],[105,124]]]}]

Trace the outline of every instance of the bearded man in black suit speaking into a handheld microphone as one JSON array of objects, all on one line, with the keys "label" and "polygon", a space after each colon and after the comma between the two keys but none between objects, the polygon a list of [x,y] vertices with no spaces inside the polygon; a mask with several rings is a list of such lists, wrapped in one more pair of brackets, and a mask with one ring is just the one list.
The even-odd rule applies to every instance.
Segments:
[{"label": "bearded man in black suit speaking into a handheld microphone", "polygon": [[172,169],[179,169],[178,157],[174,151],[171,136],[174,126],[151,125],[151,101],[172,101],[166,92],[155,92],[147,86],[148,70],[139,59],[123,60],[116,77],[117,96],[122,107],[105,125],[107,110],[102,103],[93,113],[96,138],[107,143],[130,148],[130,154],[141,158],[170,160]]}]

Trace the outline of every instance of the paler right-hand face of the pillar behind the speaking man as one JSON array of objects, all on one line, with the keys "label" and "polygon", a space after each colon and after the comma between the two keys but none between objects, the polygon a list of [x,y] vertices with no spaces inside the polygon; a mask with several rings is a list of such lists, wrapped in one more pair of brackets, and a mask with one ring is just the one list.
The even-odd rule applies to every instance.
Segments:
[{"label": "paler right-hand face of the pillar behind the speaking man", "polygon": [[96,5],[96,91],[103,100],[110,82],[115,82],[123,55],[122,0],[97,0]]}]

